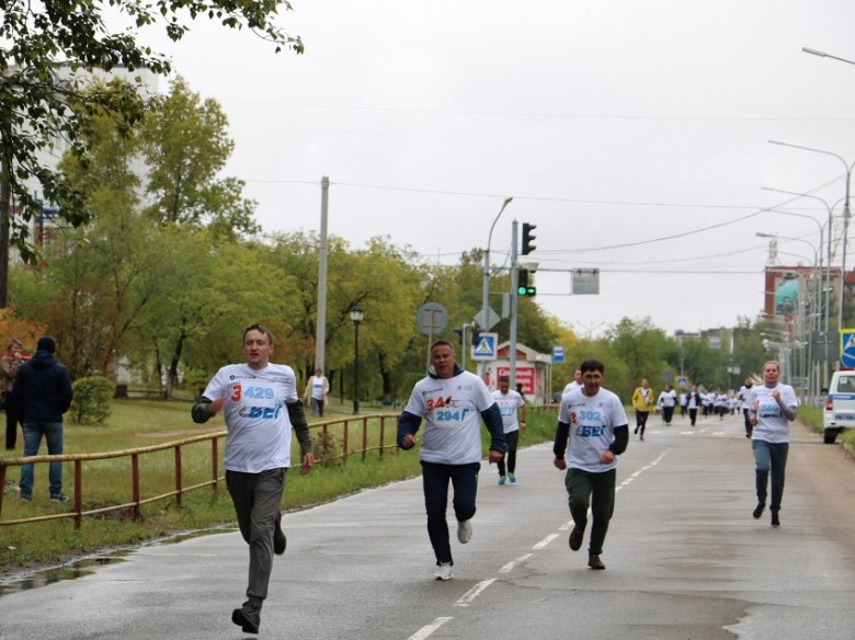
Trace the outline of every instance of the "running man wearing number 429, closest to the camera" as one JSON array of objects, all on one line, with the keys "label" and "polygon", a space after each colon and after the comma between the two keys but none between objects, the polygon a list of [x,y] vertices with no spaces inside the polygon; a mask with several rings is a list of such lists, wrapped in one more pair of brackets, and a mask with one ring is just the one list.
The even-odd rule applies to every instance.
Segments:
[{"label": "running man wearing number 429, closest to the camera", "polygon": [[301,472],[310,471],[315,464],[297,378],[290,367],[272,364],[272,353],[273,334],[265,327],[244,329],[247,363],[219,369],[191,411],[197,423],[207,422],[220,409],[225,411],[226,485],[250,555],[247,602],[231,613],[231,621],[248,633],[259,632],[273,553],[284,553],[287,545],[280,502],[292,462],[292,427],[305,460]]}]

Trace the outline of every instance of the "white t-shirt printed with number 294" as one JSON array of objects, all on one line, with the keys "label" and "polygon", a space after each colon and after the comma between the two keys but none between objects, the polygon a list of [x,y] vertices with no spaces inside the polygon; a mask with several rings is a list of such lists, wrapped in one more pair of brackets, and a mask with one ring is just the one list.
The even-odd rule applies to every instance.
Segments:
[{"label": "white t-shirt printed with number 294", "polygon": [[420,459],[442,465],[478,462],[481,411],[494,402],[483,380],[470,372],[415,382],[403,410],[425,420]]}]

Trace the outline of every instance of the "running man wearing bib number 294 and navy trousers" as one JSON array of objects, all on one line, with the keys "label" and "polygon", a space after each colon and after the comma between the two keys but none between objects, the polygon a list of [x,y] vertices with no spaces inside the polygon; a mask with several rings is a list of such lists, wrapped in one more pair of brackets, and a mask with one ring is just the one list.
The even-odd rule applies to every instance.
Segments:
[{"label": "running man wearing bib number 294 and navy trousers", "polygon": [[438,340],[431,346],[428,377],[413,387],[398,421],[398,446],[411,449],[415,434],[425,421],[420,459],[428,537],[438,569],[437,580],[454,578],[452,546],[448,542],[448,483],[454,487],[454,514],[457,540],[472,535],[478,471],[481,469],[481,420],[490,431],[490,464],[499,462],[505,452],[502,414],[483,380],[457,364],[454,345]]}]

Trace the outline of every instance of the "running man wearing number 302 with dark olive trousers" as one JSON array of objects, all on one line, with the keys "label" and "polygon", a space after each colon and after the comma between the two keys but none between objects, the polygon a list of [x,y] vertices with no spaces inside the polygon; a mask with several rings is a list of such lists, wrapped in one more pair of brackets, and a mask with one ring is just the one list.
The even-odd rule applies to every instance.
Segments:
[{"label": "running man wearing number 302 with dark olive trousers", "polygon": [[[629,425],[620,399],[601,387],[603,363],[586,359],[580,369],[583,387],[561,398],[554,464],[558,469],[567,469],[565,487],[574,525],[570,548],[578,551],[582,547],[590,505],[593,526],[588,565],[605,569],[600,555],[615,508],[617,456],[629,443]],[[565,460],[566,452],[569,460]]]}]

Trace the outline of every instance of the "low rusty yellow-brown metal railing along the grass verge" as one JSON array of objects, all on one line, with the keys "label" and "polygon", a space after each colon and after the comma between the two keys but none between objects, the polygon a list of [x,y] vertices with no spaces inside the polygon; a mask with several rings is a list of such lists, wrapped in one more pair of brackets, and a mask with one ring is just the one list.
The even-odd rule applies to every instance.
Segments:
[{"label": "low rusty yellow-brown metal railing along the grass verge", "polygon": [[[397,413],[396,414],[371,413],[371,414],[360,414],[360,415],[353,415],[343,419],[338,418],[332,420],[326,420],[322,422],[311,423],[309,425],[309,428],[318,430],[321,433],[321,437],[320,438],[316,437],[316,442],[319,441],[318,444],[322,443],[322,446],[326,447],[324,450],[322,452],[318,452],[316,447],[316,459],[319,459],[321,464],[324,464],[333,460],[345,459],[352,455],[360,455],[362,459],[365,460],[369,452],[378,452],[380,457],[383,457],[384,452],[386,449],[395,449],[397,452],[398,445],[395,442],[395,433],[392,433],[391,444],[386,443],[386,436],[387,436],[386,422],[391,420],[394,422],[394,425],[397,426],[397,419],[398,419]],[[368,422],[372,420],[379,420],[380,423],[379,423],[379,430],[377,432],[377,444],[374,444],[372,442],[369,445]],[[360,442],[361,448],[355,448],[355,449],[350,448],[351,431],[352,431],[351,426],[353,423],[357,423],[362,432],[362,437]],[[339,424],[341,424],[341,435],[340,435],[341,448],[339,449],[340,453],[335,450],[328,450],[331,444],[334,444],[334,437],[332,438],[330,437],[331,431]],[[175,502],[180,506],[183,494],[189,491],[194,491],[196,489],[202,489],[204,487],[210,487],[212,490],[216,492],[218,483],[225,480],[225,475],[219,473],[219,450],[220,450],[219,441],[221,438],[225,438],[228,432],[226,430],[223,430],[216,433],[197,435],[193,437],[183,438],[180,441],[163,443],[160,445],[151,445],[151,446],[139,447],[134,449],[124,449],[119,452],[104,452],[104,453],[95,453],[95,454],[69,454],[69,455],[64,454],[60,456],[29,456],[22,458],[0,459],[0,516],[2,516],[2,511],[3,511],[3,493],[4,493],[3,489],[5,488],[7,472],[10,467],[21,467],[22,465],[29,465],[29,464],[44,465],[49,462],[73,462],[75,465],[75,481],[73,481],[75,491],[73,491],[72,510],[70,512],[54,513],[54,514],[39,515],[39,516],[27,517],[27,518],[10,519],[10,521],[0,519],[0,527],[19,525],[19,524],[30,524],[30,523],[59,519],[59,518],[73,518],[75,528],[79,529],[83,516],[99,515],[99,514],[109,513],[113,511],[132,510],[134,519],[138,519],[140,515],[139,507],[144,504],[148,504],[151,502],[157,502],[159,500],[166,500],[168,498],[174,496]],[[206,442],[206,441],[210,442],[210,478],[204,482],[198,482],[190,487],[184,487],[183,473],[182,473],[182,450],[184,447],[197,443]],[[168,449],[172,449],[174,452],[174,490],[168,491],[166,493],[160,493],[157,495],[142,498],[140,492],[140,480],[139,480],[140,460],[144,459],[145,456],[149,454],[159,453]],[[318,453],[321,454],[320,457],[318,457],[317,455]],[[83,462],[106,460],[113,458],[129,458],[130,460],[130,502],[103,506],[100,508],[88,508],[88,510],[84,508]]]}]

